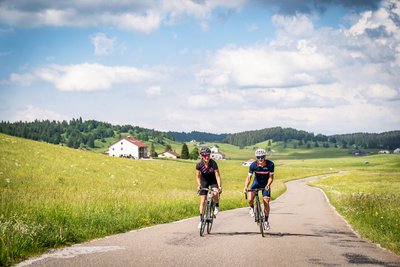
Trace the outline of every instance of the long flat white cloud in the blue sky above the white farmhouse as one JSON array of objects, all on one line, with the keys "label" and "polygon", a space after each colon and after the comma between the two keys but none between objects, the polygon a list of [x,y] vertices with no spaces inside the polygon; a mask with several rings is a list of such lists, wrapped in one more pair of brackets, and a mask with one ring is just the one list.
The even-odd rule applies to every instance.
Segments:
[{"label": "long flat white cloud in the blue sky above the white farmhouse", "polygon": [[116,84],[141,83],[161,79],[162,74],[135,67],[108,67],[96,63],[48,65],[32,73],[11,74],[10,81],[29,84],[34,80],[52,83],[61,91],[104,91]]}]

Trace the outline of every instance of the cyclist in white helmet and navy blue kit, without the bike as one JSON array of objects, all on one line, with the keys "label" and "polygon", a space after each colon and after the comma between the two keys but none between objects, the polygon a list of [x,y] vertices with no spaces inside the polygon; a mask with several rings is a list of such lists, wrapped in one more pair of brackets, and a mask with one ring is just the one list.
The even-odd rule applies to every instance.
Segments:
[{"label": "cyclist in white helmet and navy blue kit, without the bike", "polygon": [[270,160],[265,159],[267,153],[264,149],[257,149],[255,155],[257,157],[257,160],[253,161],[253,163],[251,163],[250,165],[249,173],[244,183],[243,193],[249,193],[248,200],[250,205],[250,215],[254,216],[254,198],[256,193],[254,191],[247,192],[247,187],[249,186],[251,177],[254,173],[254,181],[250,189],[264,188],[262,190],[265,215],[264,229],[268,231],[270,228],[268,217],[270,211],[269,202],[271,199],[271,184],[274,181],[274,163]]}]

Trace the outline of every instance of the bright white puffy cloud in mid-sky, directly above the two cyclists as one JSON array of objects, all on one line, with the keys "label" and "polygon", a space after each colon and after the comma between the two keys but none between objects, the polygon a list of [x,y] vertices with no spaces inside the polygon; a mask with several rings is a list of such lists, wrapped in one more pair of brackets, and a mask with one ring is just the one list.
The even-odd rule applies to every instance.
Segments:
[{"label": "bright white puffy cloud in mid-sky, directly above the two cyclists", "polygon": [[[296,50],[294,50],[296,49]],[[303,50],[302,50],[303,51]],[[272,46],[227,47],[209,59],[209,66],[197,78],[208,86],[292,87],[325,82],[332,67],[324,54],[280,50]],[[315,51],[315,50],[314,50]]]}]

